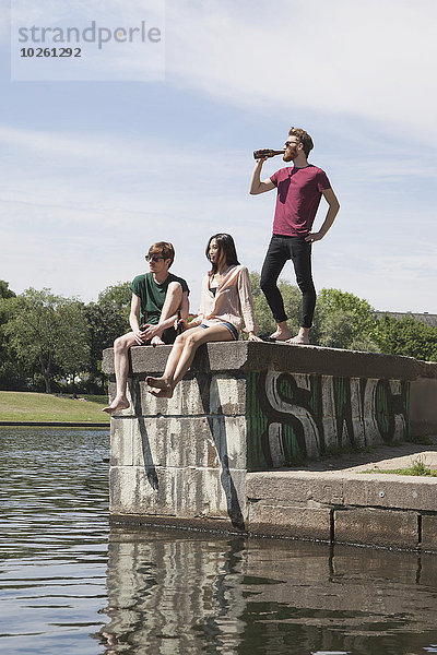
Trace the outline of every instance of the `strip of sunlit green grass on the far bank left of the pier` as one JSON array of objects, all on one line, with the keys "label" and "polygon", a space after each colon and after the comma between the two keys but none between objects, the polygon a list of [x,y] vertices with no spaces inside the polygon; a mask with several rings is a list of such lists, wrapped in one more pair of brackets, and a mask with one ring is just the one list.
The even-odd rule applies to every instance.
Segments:
[{"label": "strip of sunlit green grass on the far bank left of the pier", "polygon": [[108,402],[106,396],[85,394],[79,397],[87,402],[73,401],[68,395],[57,397],[28,391],[0,391],[0,420],[109,424],[109,416],[102,412]]}]

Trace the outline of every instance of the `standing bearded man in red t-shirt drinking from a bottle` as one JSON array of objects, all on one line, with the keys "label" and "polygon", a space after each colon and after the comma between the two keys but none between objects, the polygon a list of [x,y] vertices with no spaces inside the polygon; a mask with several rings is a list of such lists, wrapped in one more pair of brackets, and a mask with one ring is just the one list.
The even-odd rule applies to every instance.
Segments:
[{"label": "standing bearded man in red t-shirt drinking from a bottle", "polygon": [[[312,139],[305,130],[291,128],[283,160],[293,162],[293,166],[281,168],[269,179],[261,181],[261,168],[265,158],[257,159],[250,182],[252,195],[277,189],[273,235],[262,266],[260,285],[277,324],[271,338],[293,344],[309,344],[308,333],[316,307],[311,243],[324,237],[340,209],[327,174],[308,164],[307,157],[312,147]],[[328,213],[321,228],[312,233],[312,223],[322,195],[329,205]],[[290,259],[303,295],[300,329],[294,337],[286,323],[284,301],[276,285]]]}]

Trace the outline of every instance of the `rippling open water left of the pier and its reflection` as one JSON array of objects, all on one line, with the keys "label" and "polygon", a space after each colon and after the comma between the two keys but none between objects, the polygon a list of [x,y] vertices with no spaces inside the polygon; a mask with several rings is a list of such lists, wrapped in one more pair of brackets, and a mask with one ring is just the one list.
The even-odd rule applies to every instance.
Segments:
[{"label": "rippling open water left of the pier and its reflection", "polygon": [[102,652],[108,433],[0,429],[0,650]]}]

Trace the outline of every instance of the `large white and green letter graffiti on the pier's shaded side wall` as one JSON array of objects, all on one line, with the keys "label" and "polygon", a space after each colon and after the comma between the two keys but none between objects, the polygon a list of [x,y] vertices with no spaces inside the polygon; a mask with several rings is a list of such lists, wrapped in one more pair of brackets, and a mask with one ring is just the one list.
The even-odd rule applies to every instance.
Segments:
[{"label": "large white and green letter graffiti on the pier's shaded side wall", "polygon": [[248,468],[405,439],[409,394],[409,382],[400,380],[249,372]]}]

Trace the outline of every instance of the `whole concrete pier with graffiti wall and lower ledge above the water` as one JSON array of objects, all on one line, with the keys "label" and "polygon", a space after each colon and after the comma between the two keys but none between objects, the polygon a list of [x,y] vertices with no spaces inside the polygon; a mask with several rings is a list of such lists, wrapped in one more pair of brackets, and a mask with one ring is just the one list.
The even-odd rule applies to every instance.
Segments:
[{"label": "whole concrete pier with graffiti wall and lower ledge above the water", "polygon": [[[164,370],[168,352],[131,349],[131,407],[111,418],[113,521],[437,549],[437,478],[306,471],[330,454],[437,434],[437,364],[214,343],[160,400],[145,377]],[[110,395],[113,357],[105,352]]]}]

